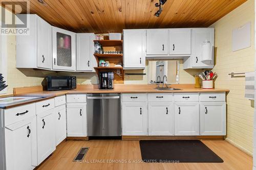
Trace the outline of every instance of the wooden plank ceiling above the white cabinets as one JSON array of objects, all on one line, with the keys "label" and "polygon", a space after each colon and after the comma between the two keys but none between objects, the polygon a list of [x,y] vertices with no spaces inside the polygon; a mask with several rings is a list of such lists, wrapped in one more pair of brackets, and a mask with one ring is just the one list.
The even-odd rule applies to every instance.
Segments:
[{"label": "wooden plank ceiling above the white cabinets", "polygon": [[[9,0],[10,1],[10,0]],[[30,13],[74,32],[208,27],[246,0],[168,0],[160,17],[157,0],[30,0]],[[26,13],[27,11],[24,11]]]}]

